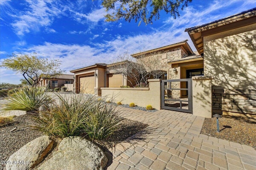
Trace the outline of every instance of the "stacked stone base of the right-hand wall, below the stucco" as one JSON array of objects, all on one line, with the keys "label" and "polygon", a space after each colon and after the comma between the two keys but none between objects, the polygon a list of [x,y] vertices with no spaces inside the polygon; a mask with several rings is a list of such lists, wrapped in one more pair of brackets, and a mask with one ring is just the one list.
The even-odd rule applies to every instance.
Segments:
[{"label": "stacked stone base of the right-hand wall, below the stucco", "polygon": [[256,118],[255,89],[213,89],[213,113]]}]

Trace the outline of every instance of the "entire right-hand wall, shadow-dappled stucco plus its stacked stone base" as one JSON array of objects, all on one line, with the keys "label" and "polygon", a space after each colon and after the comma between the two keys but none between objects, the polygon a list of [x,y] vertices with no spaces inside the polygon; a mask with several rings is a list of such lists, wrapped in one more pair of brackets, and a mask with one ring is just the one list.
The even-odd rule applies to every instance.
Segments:
[{"label": "entire right-hand wall, shadow-dappled stucco plus its stacked stone base", "polygon": [[255,50],[256,24],[204,37],[204,75],[214,75],[214,113],[255,117]]}]

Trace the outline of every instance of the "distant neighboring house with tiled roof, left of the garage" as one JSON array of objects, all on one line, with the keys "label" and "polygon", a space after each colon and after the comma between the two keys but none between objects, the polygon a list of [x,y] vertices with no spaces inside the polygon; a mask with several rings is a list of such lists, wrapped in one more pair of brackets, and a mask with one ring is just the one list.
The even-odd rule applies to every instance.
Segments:
[{"label": "distant neighboring house with tiled roof, left of the garage", "polygon": [[40,86],[48,86],[50,85],[51,89],[59,87],[61,89],[62,86],[66,86],[68,91],[73,91],[73,83],[74,83],[74,75],[70,74],[58,74],[52,75],[49,78],[40,79]]}]

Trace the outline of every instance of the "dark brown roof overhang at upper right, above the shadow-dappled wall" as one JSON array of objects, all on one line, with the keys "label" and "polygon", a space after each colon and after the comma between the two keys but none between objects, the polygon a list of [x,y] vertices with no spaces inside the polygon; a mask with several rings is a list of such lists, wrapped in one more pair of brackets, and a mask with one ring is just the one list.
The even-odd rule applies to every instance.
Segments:
[{"label": "dark brown roof overhang at upper right, above the shadow-dappled wall", "polygon": [[220,32],[232,30],[235,28],[248,26],[256,23],[256,8],[216,20],[201,26],[186,28],[192,42],[194,43],[198,53],[204,53],[204,36],[217,34]]}]

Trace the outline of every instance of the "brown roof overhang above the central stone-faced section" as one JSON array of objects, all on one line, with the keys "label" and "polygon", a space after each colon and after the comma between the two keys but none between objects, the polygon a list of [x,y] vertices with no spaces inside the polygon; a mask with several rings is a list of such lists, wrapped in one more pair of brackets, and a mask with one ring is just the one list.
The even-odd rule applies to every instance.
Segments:
[{"label": "brown roof overhang above the central stone-faced section", "polygon": [[136,58],[136,57],[139,57],[141,55],[148,54],[148,53],[154,53],[154,52],[162,51],[162,50],[166,51],[166,50],[173,49],[173,48],[176,48],[176,47],[182,47],[188,53],[188,55],[193,54],[193,51],[190,48],[190,46],[188,45],[187,41],[188,40],[184,40],[182,42],[174,43],[174,44],[167,45],[167,46],[164,46],[164,47],[151,49],[151,50],[140,52],[140,53],[135,53],[135,54],[132,54],[131,56]]}]

